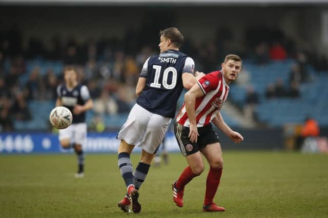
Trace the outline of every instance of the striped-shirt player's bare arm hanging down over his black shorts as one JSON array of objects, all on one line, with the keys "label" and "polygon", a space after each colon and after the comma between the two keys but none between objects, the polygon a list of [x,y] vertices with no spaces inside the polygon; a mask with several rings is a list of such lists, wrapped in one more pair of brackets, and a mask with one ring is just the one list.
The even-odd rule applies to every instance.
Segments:
[{"label": "striped-shirt player's bare arm hanging down over his black shorts", "polygon": [[185,105],[186,105],[186,111],[188,114],[188,118],[190,121],[190,127],[189,127],[189,135],[191,142],[197,142],[197,123],[196,123],[196,115],[195,115],[195,103],[196,99],[203,96],[204,93],[200,89],[198,84],[195,84],[186,94],[185,94]]}]

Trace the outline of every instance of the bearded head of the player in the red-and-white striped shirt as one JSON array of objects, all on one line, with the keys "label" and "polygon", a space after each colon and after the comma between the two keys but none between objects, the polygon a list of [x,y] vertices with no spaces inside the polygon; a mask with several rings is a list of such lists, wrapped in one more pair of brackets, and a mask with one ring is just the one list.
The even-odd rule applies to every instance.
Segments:
[{"label": "bearded head of the player in the red-and-white striped shirt", "polygon": [[224,78],[230,82],[235,81],[241,69],[241,58],[238,55],[227,55],[221,65]]}]

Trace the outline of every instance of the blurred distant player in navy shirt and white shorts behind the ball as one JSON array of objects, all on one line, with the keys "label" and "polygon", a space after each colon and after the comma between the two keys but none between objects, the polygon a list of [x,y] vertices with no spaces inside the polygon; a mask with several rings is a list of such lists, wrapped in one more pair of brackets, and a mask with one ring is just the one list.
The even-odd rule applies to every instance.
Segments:
[{"label": "blurred distant player in navy shirt and white shorts behind the ball", "polygon": [[73,148],[77,155],[78,170],[76,178],[84,177],[83,145],[87,140],[86,111],[93,107],[89,89],[77,82],[77,74],[73,67],[64,69],[65,83],[57,87],[57,106],[67,107],[73,114],[72,124],[59,130],[59,141],[63,149]]}]

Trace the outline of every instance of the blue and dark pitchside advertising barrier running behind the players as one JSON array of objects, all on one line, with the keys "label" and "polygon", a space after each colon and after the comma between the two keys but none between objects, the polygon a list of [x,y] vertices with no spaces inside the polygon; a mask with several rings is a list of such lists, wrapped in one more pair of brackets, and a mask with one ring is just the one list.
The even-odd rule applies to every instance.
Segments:
[{"label": "blue and dark pitchside advertising barrier running behind the players", "polygon": [[[283,134],[281,128],[277,129],[241,129],[244,141],[239,144],[233,143],[227,136],[218,131],[221,147],[223,150],[279,150],[283,149]],[[87,153],[116,153],[119,140],[117,132],[88,133],[84,151]],[[175,136],[168,132],[165,139],[166,150],[180,152]],[[161,149],[159,149],[161,150]],[[140,152],[140,148],[135,148]],[[58,135],[51,133],[0,133],[0,154],[30,154],[30,153],[67,153],[72,150],[61,149]]]}]

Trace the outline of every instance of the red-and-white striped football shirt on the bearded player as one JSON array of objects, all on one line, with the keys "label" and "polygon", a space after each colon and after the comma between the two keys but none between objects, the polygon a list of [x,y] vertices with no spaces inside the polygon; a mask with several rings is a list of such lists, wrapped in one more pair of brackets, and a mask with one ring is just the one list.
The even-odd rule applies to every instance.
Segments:
[{"label": "red-and-white striped football shirt on the bearded player", "polygon": [[[221,70],[207,74],[197,84],[205,94],[201,98],[196,99],[195,104],[197,127],[203,127],[210,124],[211,120],[221,109],[223,102],[227,100],[229,85],[224,80]],[[190,127],[185,104],[182,105],[176,121],[185,127]]]}]

